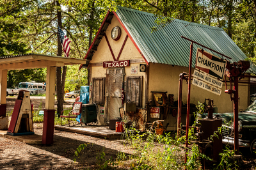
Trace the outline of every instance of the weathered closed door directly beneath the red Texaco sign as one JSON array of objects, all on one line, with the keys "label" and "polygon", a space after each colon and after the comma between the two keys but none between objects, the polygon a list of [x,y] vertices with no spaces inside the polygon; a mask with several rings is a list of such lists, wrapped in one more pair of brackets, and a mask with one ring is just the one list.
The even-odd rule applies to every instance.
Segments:
[{"label": "weathered closed door directly beneath the red Texaco sign", "polygon": [[106,79],[106,116],[105,122],[120,118],[119,107],[122,107],[122,82],[124,68],[109,68]]}]

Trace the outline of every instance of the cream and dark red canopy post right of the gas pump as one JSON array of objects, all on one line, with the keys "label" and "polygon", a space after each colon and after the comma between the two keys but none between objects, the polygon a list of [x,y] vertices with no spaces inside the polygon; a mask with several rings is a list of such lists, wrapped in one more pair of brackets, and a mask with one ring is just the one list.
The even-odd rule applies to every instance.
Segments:
[{"label": "cream and dark red canopy post right of the gas pump", "polygon": [[42,144],[52,144],[54,135],[54,97],[55,97],[55,66],[47,66],[44,128]]}]

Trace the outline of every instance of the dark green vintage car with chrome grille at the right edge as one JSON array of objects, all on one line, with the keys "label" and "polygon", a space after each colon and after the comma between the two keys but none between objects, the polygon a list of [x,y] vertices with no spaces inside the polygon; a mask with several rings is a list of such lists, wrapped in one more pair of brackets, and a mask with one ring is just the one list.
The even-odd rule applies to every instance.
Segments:
[{"label": "dark green vintage car with chrome grille at the right edge", "polygon": [[[234,145],[234,113],[214,114],[222,119],[222,142],[223,144]],[[243,112],[238,114],[239,147],[250,148],[253,155],[256,155],[256,100]]]}]

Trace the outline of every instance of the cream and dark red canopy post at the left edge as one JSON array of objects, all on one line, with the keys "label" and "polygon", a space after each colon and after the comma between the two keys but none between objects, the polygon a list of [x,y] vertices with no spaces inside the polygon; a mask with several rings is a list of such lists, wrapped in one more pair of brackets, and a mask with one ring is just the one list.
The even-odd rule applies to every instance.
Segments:
[{"label": "cream and dark red canopy post at the left edge", "polygon": [[7,72],[0,70],[0,116],[6,116]]}]

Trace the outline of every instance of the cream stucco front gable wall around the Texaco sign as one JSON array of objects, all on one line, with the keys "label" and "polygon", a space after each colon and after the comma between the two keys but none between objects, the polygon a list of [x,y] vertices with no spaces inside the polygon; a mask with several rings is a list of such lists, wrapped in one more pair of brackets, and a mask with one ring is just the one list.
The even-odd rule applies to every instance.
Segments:
[{"label": "cream stucco front gable wall around the Texaco sign", "polygon": [[[119,26],[122,31],[122,35],[118,41],[115,41],[111,38],[111,30],[115,26]],[[114,16],[113,19],[111,20],[111,24],[109,24],[108,29],[106,30],[106,36],[108,37],[108,41],[109,41],[109,44],[111,45],[111,49],[113,50],[113,54],[115,58],[118,57],[118,54],[120,52],[120,49],[122,48],[126,35],[127,34],[125,33],[123,27]],[[124,49],[122,50],[122,54],[120,55],[119,61],[131,60],[131,59],[142,59],[142,58],[140,53],[134,46],[134,44],[131,42],[131,39],[127,38],[127,42],[125,43]],[[105,37],[103,37],[102,40],[100,41],[97,51],[93,54],[93,58],[90,61],[92,65],[92,72],[90,77],[91,81],[92,81],[92,78],[95,78],[95,77],[106,77],[106,72],[108,68],[103,68],[103,66],[100,65],[104,61],[114,61]],[[128,76],[143,76],[142,107],[145,107],[145,72],[140,72],[140,68],[139,68],[137,74],[131,73],[132,66],[140,66],[140,64],[143,64],[143,63],[145,64],[145,62],[141,63],[140,61],[140,63],[131,63],[130,66],[124,67],[125,69],[124,81],[126,82],[126,77]],[[95,64],[100,66],[95,66]],[[107,109],[105,108],[105,112],[106,110]],[[100,124],[104,124],[104,117],[98,116],[98,120]]]}]

